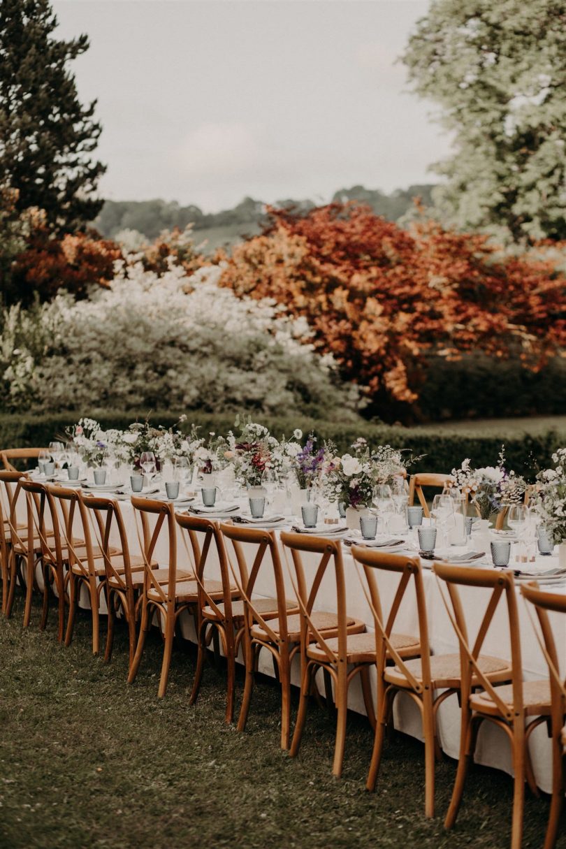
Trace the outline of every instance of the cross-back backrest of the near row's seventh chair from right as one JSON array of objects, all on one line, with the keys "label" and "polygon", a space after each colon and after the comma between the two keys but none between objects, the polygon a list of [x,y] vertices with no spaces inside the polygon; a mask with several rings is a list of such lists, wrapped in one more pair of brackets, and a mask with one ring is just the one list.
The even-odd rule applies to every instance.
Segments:
[{"label": "cross-back backrest of the near row's seventh chair from right", "polygon": [[[137,538],[145,562],[146,589],[151,588],[160,596],[163,604],[174,607],[177,594],[177,523],[173,505],[165,501],[155,501],[154,498],[137,498],[132,495],[132,507],[136,517]],[[153,529],[149,525],[150,516],[155,517]],[[139,532],[138,519],[141,520],[142,535]],[[155,578],[151,569],[155,546],[164,526],[169,548],[169,581],[166,593],[163,584]]]}]

